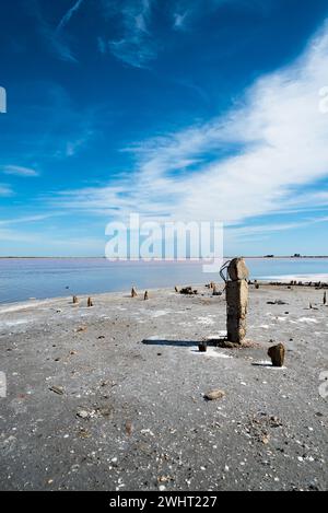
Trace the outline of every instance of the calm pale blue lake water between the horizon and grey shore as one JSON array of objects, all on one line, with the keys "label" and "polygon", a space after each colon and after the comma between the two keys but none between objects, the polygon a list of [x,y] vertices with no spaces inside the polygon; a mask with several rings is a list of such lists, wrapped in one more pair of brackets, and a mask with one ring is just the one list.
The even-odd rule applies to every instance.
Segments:
[{"label": "calm pale blue lake water between the horizon and grey shore", "polygon": [[[328,281],[328,258],[247,259],[251,279]],[[105,258],[0,259],[0,303],[219,281],[199,263],[109,263]]]}]

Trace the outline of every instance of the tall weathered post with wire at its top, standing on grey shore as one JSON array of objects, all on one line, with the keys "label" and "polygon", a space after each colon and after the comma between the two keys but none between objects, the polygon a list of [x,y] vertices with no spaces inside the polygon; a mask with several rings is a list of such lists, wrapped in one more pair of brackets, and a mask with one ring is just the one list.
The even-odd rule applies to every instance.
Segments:
[{"label": "tall weathered post with wire at its top, standing on grey shore", "polygon": [[234,258],[227,267],[226,329],[227,340],[243,343],[246,336],[249,272],[244,258]]}]

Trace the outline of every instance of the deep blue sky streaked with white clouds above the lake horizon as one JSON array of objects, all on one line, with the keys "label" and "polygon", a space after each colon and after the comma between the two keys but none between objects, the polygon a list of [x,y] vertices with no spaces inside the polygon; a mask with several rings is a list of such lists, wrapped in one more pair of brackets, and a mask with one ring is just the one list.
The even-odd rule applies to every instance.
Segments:
[{"label": "deep blue sky streaked with white clouds above the lake horizon", "polygon": [[0,255],[103,255],[130,212],[328,254],[328,0],[0,9]]}]

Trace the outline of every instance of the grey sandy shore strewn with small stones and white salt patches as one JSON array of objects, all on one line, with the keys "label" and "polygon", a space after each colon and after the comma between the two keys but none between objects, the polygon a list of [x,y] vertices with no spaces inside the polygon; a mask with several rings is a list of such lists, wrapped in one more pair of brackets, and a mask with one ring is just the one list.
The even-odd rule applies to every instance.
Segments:
[{"label": "grey sandy shore strewn with small stones and white salt patches", "polygon": [[[258,346],[207,353],[198,341],[225,334],[225,301],[199,291],[2,305],[0,488],[327,489],[323,291],[251,288]],[[271,339],[283,369],[268,364]],[[207,401],[215,388],[225,397]]]}]

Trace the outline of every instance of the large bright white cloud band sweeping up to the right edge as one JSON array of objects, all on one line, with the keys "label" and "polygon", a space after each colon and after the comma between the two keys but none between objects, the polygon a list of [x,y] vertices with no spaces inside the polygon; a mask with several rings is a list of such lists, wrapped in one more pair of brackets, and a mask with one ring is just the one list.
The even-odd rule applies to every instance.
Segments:
[{"label": "large bright white cloud band sweeping up to the right edge", "polygon": [[[298,190],[312,184],[320,195],[314,184],[328,177],[328,115],[319,108],[327,59],[325,24],[300,59],[257,80],[227,114],[131,148],[138,165],[119,184],[63,191],[59,203],[227,224],[311,207]],[[238,151],[221,158],[227,148]],[[218,154],[210,163],[209,153]]]}]

